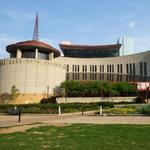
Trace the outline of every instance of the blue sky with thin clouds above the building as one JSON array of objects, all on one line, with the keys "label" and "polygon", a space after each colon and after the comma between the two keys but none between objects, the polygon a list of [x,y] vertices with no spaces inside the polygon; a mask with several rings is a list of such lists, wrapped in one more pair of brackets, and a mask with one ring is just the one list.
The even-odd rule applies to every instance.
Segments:
[{"label": "blue sky with thin clouds above the building", "polygon": [[8,44],[30,40],[39,13],[40,40],[58,48],[134,39],[135,52],[150,49],[150,0],[0,0],[0,58]]}]

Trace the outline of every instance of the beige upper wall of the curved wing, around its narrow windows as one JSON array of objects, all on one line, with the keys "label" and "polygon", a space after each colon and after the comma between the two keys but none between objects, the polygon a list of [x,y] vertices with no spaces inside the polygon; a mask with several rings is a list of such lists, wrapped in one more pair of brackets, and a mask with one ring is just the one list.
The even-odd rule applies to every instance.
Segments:
[{"label": "beige upper wall of the curved wing, around its narrow windows", "polygon": [[117,64],[123,65],[123,74],[126,72],[126,64],[135,63],[136,75],[140,75],[140,62],[147,63],[147,76],[150,76],[150,51],[137,53],[127,56],[109,57],[109,58],[69,58],[69,57],[58,57],[54,60],[61,64],[69,65],[69,72],[72,72],[73,65],[79,65],[80,71],[82,72],[82,65],[87,65],[87,72],[90,72],[90,65],[97,65],[97,72],[99,72],[99,65],[104,65],[104,73],[107,73],[107,65],[114,65],[114,73],[117,72]]}]

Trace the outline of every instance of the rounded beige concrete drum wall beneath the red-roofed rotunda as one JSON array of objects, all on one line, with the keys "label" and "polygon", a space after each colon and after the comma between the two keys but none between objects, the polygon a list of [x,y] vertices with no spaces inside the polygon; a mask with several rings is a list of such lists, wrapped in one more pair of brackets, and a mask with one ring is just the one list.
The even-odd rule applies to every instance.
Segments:
[{"label": "rounded beige concrete drum wall beneath the red-roofed rotunda", "polygon": [[13,85],[21,94],[53,94],[53,89],[65,80],[65,76],[64,65],[48,60],[0,60],[0,94],[10,93]]}]

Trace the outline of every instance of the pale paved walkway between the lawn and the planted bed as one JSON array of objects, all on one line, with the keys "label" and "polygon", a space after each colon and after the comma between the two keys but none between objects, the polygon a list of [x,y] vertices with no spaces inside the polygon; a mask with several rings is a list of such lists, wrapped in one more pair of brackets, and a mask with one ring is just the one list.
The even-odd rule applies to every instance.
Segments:
[{"label": "pale paved walkway between the lawn and the planted bed", "polygon": [[90,116],[85,115],[22,115],[21,122],[18,116],[0,115],[0,127],[26,125],[34,123],[62,124],[62,123],[88,123],[88,124],[150,124],[150,116]]}]

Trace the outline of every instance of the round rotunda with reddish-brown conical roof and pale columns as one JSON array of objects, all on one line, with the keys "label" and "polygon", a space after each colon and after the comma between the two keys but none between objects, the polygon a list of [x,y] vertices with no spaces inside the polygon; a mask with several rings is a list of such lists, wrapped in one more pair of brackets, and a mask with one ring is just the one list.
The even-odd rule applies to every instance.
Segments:
[{"label": "round rotunda with reddish-brown conical roof and pale columns", "polygon": [[18,42],[8,45],[6,51],[10,58],[35,58],[51,60],[60,56],[60,51],[52,46],[37,40]]}]

